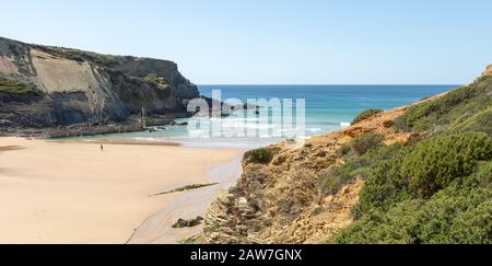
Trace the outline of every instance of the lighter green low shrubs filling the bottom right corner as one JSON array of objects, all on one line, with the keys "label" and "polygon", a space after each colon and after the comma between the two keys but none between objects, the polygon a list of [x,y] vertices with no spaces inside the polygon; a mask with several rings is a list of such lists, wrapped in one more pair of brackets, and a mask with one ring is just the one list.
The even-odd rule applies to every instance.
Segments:
[{"label": "lighter green low shrubs filling the bottom right corner", "polygon": [[450,187],[432,199],[371,210],[330,243],[491,244],[492,189]]}]

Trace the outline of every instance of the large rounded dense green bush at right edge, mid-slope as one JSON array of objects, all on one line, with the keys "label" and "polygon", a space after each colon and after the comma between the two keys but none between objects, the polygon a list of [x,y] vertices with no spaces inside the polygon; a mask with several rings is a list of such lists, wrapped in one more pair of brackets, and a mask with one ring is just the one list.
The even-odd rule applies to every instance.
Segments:
[{"label": "large rounded dense green bush at right edge, mid-slope", "polygon": [[422,141],[402,163],[412,193],[429,198],[455,178],[470,175],[478,161],[492,158],[492,141],[484,134],[461,134]]}]

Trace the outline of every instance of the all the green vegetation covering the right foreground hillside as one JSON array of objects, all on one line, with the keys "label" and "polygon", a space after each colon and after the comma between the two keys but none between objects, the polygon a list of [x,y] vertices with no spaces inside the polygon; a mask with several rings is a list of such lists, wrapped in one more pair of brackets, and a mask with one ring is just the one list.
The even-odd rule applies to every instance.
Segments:
[{"label": "all the green vegetation covering the right foreground hillside", "polygon": [[366,153],[342,147],[348,162],[321,175],[326,192],[355,176],[365,184],[354,223],[329,242],[492,243],[491,92],[482,77],[410,107],[395,127],[425,139]]}]

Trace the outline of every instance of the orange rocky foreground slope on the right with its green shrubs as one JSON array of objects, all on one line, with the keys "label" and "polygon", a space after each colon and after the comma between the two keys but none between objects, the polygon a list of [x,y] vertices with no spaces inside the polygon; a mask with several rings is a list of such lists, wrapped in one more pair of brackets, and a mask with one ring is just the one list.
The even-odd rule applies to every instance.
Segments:
[{"label": "orange rocky foreground slope on the right with its green shrubs", "polygon": [[249,151],[207,243],[492,243],[492,72],[343,130]]}]

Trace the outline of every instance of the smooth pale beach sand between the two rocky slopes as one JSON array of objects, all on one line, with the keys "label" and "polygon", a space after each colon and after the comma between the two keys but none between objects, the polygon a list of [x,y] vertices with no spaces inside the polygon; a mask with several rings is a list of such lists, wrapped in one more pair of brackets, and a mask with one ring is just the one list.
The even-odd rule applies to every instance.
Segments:
[{"label": "smooth pale beach sand between the two rocky slopes", "polygon": [[[173,220],[231,186],[243,152],[0,138],[0,243],[175,243],[199,228]],[[150,197],[209,182],[221,184]]]}]

